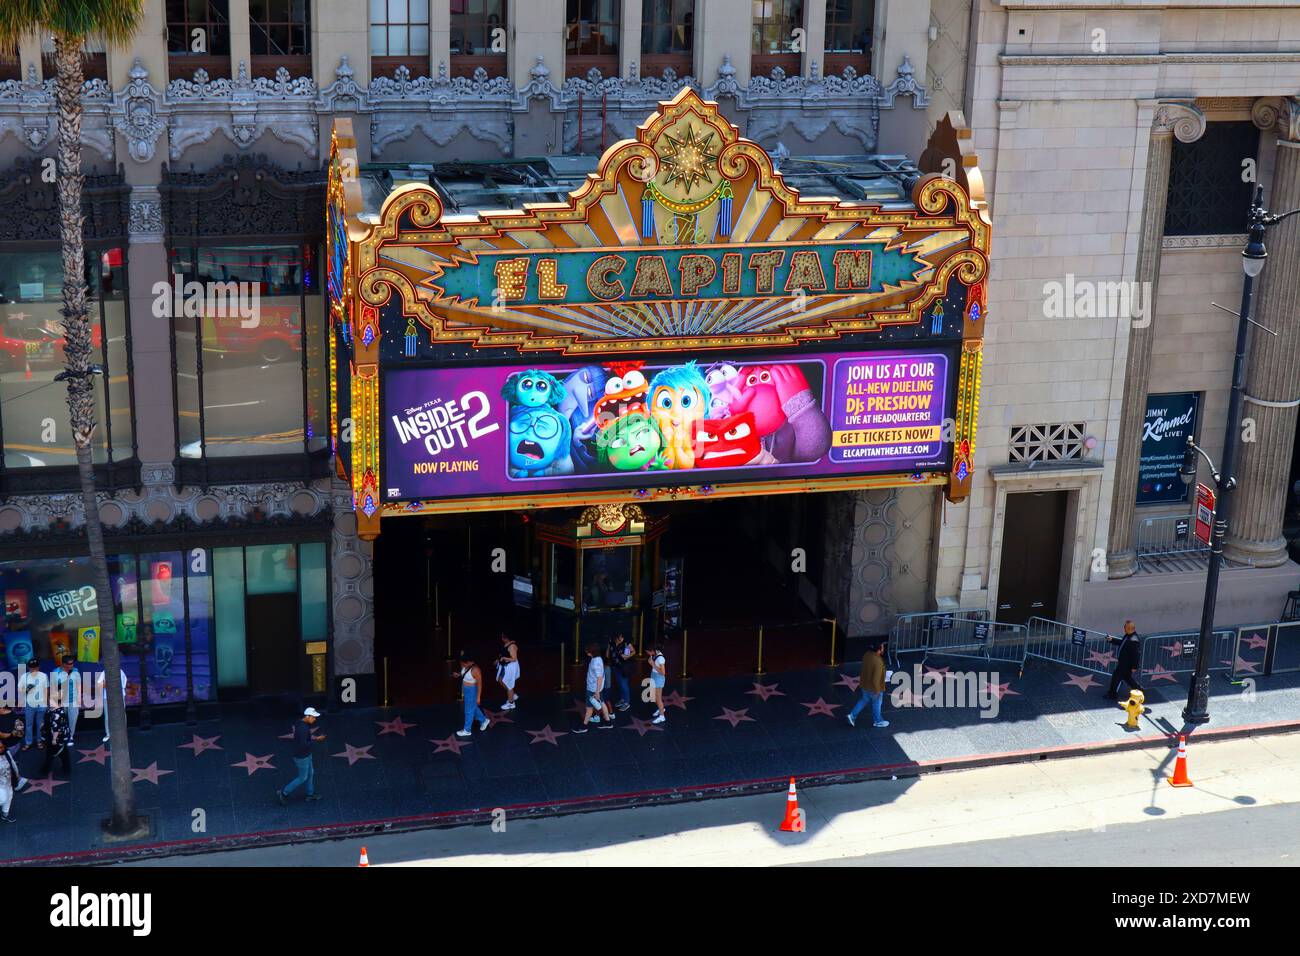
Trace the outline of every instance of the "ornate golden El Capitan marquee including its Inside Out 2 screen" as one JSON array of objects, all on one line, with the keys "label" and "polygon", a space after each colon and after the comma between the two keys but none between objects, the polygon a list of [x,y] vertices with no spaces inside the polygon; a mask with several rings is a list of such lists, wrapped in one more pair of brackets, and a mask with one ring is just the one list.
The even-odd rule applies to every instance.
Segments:
[{"label": "ornate golden El Capitan marquee including its Inside Out 2 screen", "polygon": [[335,121],[330,421],[361,536],[660,497],[961,501],[989,243],[968,137],[939,125],[910,202],[803,198],[686,88],[567,202],[452,216],[425,185],[367,209]]}]

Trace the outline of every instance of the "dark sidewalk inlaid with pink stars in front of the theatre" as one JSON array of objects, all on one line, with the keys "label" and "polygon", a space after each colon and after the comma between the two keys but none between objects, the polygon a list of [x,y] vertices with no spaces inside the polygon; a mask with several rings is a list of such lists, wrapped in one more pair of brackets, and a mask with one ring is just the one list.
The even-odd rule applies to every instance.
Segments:
[{"label": "dark sidewalk inlaid with pink stars in front of the theatre", "polygon": [[[978,667],[956,658],[933,663]],[[1014,670],[997,678],[996,718],[982,718],[975,708],[887,702],[890,727],[872,728],[864,711],[854,728],[844,715],[857,698],[858,669],[853,662],[771,674],[759,683],[670,682],[667,724],[650,724],[650,706],[637,704],[619,714],[615,730],[582,736],[568,734],[577,718],[566,706],[576,706],[576,696],[529,697],[519,710],[491,711],[494,726],[476,728],[472,743],[454,736],[456,705],[326,714],[320,727],[329,739],[316,750],[324,799],[287,808],[276,803],[274,791],[292,777],[289,740],[280,739],[292,713],[231,711],[195,727],[156,726],[131,736],[138,808],[151,818],[153,852],[164,849],[159,844],[185,852],[484,819],[493,808],[519,817],[680,801],[781,790],[789,775],[809,786],[1039,753],[1161,747],[1182,726],[1187,696],[1186,679],[1153,683],[1143,728],[1126,734],[1123,713],[1102,697],[1101,678],[1031,663],[1023,678]],[[489,704],[499,702],[493,689]],[[1210,714],[1202,736],[1300,727],[1300,675],[1258,679],[1254,693],[1243,695],[1214,674]],[[99,821],[109,806],[108,749],[94,726],[82,731],[78,747],[72,782],[38,782],[14,800],[17,822],[0,825],[0,861],[77,853],[94,861],[142,848],[105,847]],[[38,750],[21,754],[23,770],[34,773],[40,757]]]}]

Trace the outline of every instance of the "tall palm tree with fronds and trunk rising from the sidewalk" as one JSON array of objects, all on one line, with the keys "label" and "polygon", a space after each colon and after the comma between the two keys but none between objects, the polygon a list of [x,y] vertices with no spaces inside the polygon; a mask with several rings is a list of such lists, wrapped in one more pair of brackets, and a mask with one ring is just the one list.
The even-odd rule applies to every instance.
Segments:
[{"label": "tall palm tree with fronds and trunk rising from the sidewalk", "polygon": [[104,554],[104,528],[95,501],[91,441],[95,434],[95,371],[91,365],[91,325],[86,313],[86,243],[82,235],[81,91],[86,39],[125,44],[143,17],[144,0],[3,0],[0,47],[17,49],[23,36],[53,35],[58,105],[58,234],[64,260],[64,360],[60,377],[68,382],[68,410],[77,447],[86,542],[99,598],[100,657],[104,662],[105,714],[113,737],[113,816],[109,831],[133,834],[139,829],[131,786],[131,753],[122,706],[121,654],[114,632],[113,591]]}]

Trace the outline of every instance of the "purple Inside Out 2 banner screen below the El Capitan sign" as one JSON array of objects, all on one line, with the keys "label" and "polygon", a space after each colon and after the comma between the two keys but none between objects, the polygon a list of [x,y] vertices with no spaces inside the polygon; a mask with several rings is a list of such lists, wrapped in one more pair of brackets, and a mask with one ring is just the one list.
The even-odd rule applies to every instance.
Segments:
[{"label": "purple Inside Out 2 banner screen below the El Capitan sign", "polygon": [[944,470],[942,352],[385,373],[387,501]]}]

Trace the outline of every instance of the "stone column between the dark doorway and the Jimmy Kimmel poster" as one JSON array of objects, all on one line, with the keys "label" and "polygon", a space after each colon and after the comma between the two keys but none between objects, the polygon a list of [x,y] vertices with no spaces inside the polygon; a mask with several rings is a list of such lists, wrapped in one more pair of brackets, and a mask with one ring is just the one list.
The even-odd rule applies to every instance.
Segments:
[{"label": "stone column between the dark doorway and the Jimmy Kimmel poster", "polygon": [[1134,546],[1138,505],[1138,466],[1141,459],[1141,432],[1147,419],[1147,385],[1150,350],[1156,339],[1156,287],[1160,285],[1161,239],[1165,237],[1165,206],[1169,199],[1169,164],[1174,137],[1193,143],[1205,133],[1205,114],[1190,101],[1164,100],[1156,104],[1147,147],[1147,182],[1143,190],[1141,233],[1138,238],[1138,267],[1134,278],[1150,290],[1152,315],[1143,326],[1128,326],[1128,359],[1124,365],[1124,394],[1115,446],[1115,483],[1110,499],[1110,536],[1106,564],[1110,578],[1128,578],[1138,570]]}]

